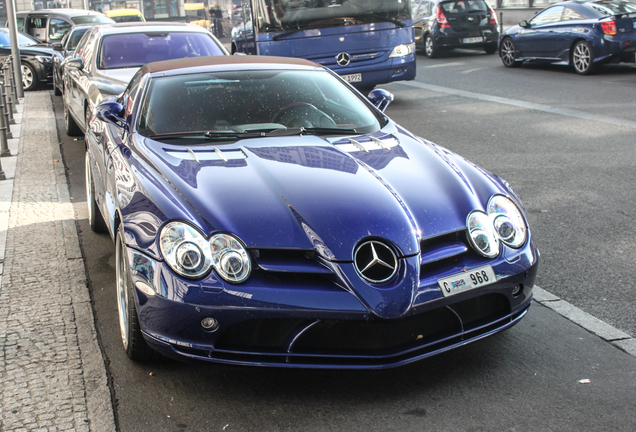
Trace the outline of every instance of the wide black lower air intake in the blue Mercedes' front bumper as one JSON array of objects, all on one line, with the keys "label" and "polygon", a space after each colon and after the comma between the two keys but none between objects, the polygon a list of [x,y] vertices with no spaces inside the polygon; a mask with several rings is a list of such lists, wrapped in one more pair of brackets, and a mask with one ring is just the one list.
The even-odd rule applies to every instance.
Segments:
[{"label": "wide black lower air intake in the blue Mercedes' front bumper", "polygon": [[281,354],[386,355],[461,337],[509,313],[505,296],[487,294],[397,320],[248,320],[226,330],[215,347]]}]

